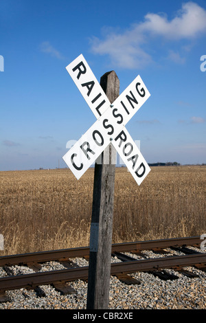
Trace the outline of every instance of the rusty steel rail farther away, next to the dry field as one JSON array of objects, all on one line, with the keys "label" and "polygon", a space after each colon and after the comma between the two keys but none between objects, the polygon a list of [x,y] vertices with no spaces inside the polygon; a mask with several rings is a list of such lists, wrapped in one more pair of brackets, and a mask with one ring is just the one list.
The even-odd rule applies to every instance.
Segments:
[{"label": "rusty steel rail farther away, next to the dry field", "polygon": [[[199,236],[187,238],[170,238],[152,241],[136,241],[128,243],[115,243],[112,252],[141,252],[143,250],[164,249],[168,247],[179,247],[183,245],[200,245]],[[65,260],[68,258],[89,256],[89,247],[78,247],[71,249],[58,249],[46,252],[32,252],[28,254],[15,254],[0,256],[0,267],[28,263],[45,263],[52,260]]]}]

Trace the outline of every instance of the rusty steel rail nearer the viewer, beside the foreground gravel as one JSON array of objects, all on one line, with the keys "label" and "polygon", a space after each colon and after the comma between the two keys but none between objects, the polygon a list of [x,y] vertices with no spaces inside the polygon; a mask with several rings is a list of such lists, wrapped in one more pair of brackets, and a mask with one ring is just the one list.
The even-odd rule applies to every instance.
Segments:
[{"label": "rusty steel rail nearer the viewer, beside the foreground gravel", "polygon": [[[192,265],[205,265],[206,254],[187,256],[168,256],[164,258],[150,258],[144,260],[126,261],[111,264],[111,275],[132,274],[136,271],[150,271],[167,268],[178,268]],[[55,282],[71,282],[87,280],[89,267],[76,267],[56,271],[44,271],[36,274],[25,274],[0,278],[0,293],[21,288],[35,288],[41,285],[50,285]]]}]

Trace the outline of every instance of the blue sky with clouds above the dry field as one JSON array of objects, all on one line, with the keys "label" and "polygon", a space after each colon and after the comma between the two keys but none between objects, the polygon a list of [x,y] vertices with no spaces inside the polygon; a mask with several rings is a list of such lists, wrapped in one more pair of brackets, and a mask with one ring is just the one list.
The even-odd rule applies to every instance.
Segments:
[{"label": "blue sky with clouds above the dry field", "polygon": [[126,129],[148,163],[206,163],[205,44],[205,0],[0,0],[0,170],[66,167],[95,122],[65,69],[80,54],[98,80],[115,70],[120,93],[144,80]]}]

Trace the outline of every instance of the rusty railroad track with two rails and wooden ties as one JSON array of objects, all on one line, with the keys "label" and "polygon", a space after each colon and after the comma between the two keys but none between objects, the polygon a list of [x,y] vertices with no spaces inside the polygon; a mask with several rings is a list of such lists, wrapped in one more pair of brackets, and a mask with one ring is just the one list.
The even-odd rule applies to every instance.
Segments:
[{"label": "rusty railroad track with two rails and wooden ties", "polygon": [[[114,244],[111,256],[118,258],[119,262],[111,263],[111,275],[117,276],[126,284],[134,285],[140,282],[129,274],[136,271],[145,271],[165,280],[178,278],[165,269],[174,269],[190,278],[195,277],[192,271],[187,271],[184,267],[193,266],[206,271],[206,253],[198,249],[200,244],[201,240],[198,236]],[[161,256],[148,258],[146,251],[152,251]],[[176,256],[173,252],[179,252],[180,255]],[[136,258],[133,255],[136,255]],[[137,259],[137,256],[140,258]],[[21,288],[34,289],[38,296],[45,296],[39,287],[41,285],[53,285],[61,293],[74,293],[68,282],[88,278],[89,267],[78,267],[72,261],[72,258],[82,257],[89,260],[89,247],[1,256],[0,267],[8,276],[0,278],[0,302],[8,301],[6,291]],[[58,261],[65,269],[41,272],[41,266],[48,261]],[[15,265],[30,267],[34,273],[14,276],[12,266]]]}]

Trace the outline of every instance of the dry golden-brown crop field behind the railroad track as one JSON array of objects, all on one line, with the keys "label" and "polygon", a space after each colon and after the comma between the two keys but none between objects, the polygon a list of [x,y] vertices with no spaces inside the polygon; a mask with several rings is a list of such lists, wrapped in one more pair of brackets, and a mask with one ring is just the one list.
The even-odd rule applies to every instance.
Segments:
[{"label": "dry golden-brown crop field behind the railroad track", "polygon": [[[93,169],[0,172],[0,255],[89,245]],[[206,233],[206,166],[116,168],[113,243]]]}]

